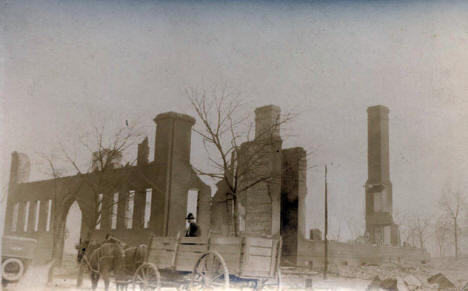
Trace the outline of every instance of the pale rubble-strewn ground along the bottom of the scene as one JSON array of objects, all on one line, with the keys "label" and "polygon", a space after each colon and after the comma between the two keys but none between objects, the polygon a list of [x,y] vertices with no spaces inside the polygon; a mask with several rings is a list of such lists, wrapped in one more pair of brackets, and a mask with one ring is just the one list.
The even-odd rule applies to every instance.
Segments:
[{"label": "pale rubble-strewn ground along the bottom of the scene", "polygon": [[[28,270],[25,276],[19,283],[10,284],[4,291],[49,291],[49,290],[91,290],[91,282],[88,275],[85,275],[81,288],[76,287],[76,279],[73,276],[68,278],[56,278],[52,284],[47,284],[47,274],[49,266],[32,267]],[[333,269],[333,268],[332,268]],[[415,284],[421,284],[418,290],[437,290],[434,286],[427,283],[427,278],[430,276],[442,273],[451,282],[457,286],[459,290],[466,282],[468,282],[468,257],[453,260],[451,258],[433,259],[427,264],[385,264],[382,266],[339,266],[332,270],[335,275],[330,274],[327,280],[322,279],[321,274],[316,274],[312,277],[313,290],[366,290],[367,286],[373,278],[378,276],[380,279],[397,279],[398,290],[415,290],[414,286],[408,286],[405,282],[416,281]],[[295,281],[296,280],[296,281]],[[300,279],[283,278],[283,288],[285,290],[300,290]],[[104,282],[99,282],[98,290],[104,290]],[[111,283],[111,290],[115,290],[115,285]],[[129,289],[131,290],[131,288]],[[163,289],[174,290],[174,289]],[[249,289],[245,288],[244,291]]]}]

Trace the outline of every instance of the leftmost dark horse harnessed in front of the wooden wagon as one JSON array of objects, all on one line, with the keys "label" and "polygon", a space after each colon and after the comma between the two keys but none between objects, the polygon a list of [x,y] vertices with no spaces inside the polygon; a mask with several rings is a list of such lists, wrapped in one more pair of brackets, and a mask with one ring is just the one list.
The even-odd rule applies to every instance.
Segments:
[{"label": "leftmost dark horse harnessed in front of the wooden wagon", "polygon": [[100,276],[104,280],[105,290],[107,291],[109,290],[111,273],[119,278],[125,272],[124,251],[122,246],[115,242],[85,242],[79,248],[78,262],[83,262],[89,269],[93,290],[96,290]]}]

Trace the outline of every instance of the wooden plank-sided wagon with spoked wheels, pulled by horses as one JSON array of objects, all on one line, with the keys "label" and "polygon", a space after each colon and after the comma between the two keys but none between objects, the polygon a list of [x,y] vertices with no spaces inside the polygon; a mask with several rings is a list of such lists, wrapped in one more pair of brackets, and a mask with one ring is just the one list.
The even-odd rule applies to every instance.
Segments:
[{"label": "wooden plank-sided wagon with spoked wheels, pulled by horses", "polygon": [[151,237],[134,289],[227,290],[248,285],[280,290],[281,239],[243,236]]}]

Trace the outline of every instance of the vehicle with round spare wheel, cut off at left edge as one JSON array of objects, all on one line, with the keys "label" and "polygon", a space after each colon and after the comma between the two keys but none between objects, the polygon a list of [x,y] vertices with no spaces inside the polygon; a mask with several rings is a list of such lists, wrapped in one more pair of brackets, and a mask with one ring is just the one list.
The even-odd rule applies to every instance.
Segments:
[{"label": "vehicle with round spare wheel, cut off at left edge", "polygon": [[18,281],[34,256],[37,241],[18,236],[2,237],[2,283]]}]

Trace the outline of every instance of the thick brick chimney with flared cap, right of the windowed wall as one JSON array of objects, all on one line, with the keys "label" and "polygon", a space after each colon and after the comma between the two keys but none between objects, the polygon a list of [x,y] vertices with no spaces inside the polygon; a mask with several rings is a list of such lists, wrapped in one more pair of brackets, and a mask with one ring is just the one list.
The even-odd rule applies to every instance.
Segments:
[{"label": "thick brick chimney with flared cap, right of the windowed wall", "polygon": [[157,125],[154,161],[159,173],[159,191],[153,192],[150,228],[159,236],[176,236],[185,228],[185,187],[192,175],[190,146],[195,119],[186,114],[166,112],[156,116],[154,121]]}]

